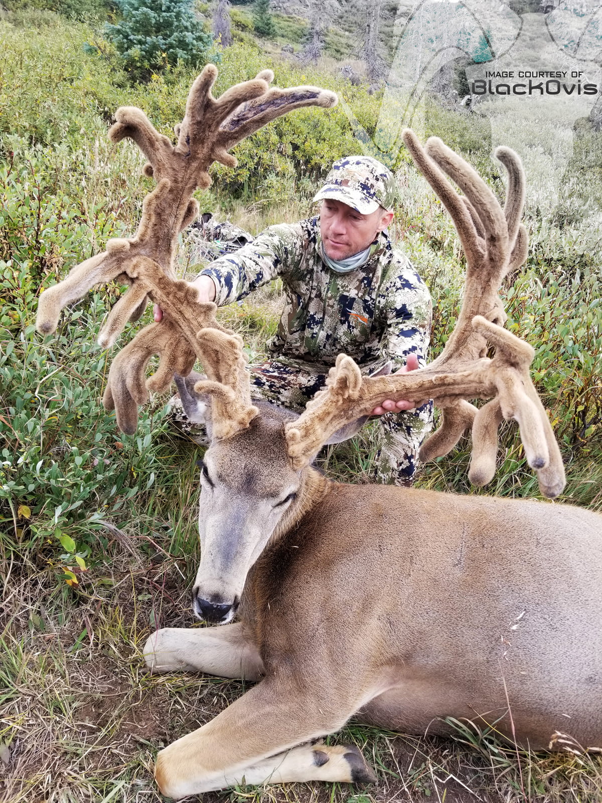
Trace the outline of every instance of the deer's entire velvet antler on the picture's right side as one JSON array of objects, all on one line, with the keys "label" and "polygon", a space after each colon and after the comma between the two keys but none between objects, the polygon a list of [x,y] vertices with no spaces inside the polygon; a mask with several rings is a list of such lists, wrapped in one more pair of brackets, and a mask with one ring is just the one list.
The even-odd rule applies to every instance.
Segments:
[{"label": "deer's entire velvet antler on the picture's right side", "polygon": [[[447,454],[471,427],[473,454],[470,481],[486,484],[495,471],[498,426],[519,422],[527,463],[537,471],[539,487],[549,497],[564,487],[562,458],[546,411],[529,375],[534,351],[502,328],[506,320],[498,288],[508,271],[527,257],[527,232],[520,223],[525,180],[519,157],[498,148],[508,187],[502,210],[478,173],[437,137],[422,149],[413,132],[404,141],[418,169],[449,211],[466,254],[462,311],[445,349],[425,368],[390,377],[361,377],[350,357],[339,355],[327,389],[316,394],[305,412],[287,425],[289,454],[302,467],[332,432],[368,414],[383,399],[421,402],[432,398],[442,410],[439,429],[425,442],[421,459]],[[458,195],[445,174],[465,193]],[[486,357],[487,344],[495,347]],[[491,399],[478,410],[468,399]]]}]

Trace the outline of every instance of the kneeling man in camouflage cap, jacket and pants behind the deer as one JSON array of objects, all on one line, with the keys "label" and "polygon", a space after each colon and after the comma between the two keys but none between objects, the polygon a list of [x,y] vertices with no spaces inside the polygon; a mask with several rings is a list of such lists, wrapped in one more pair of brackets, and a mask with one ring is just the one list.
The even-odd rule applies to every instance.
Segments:
[{"label": "kneeling man in camouflage cap, jacket and pants behind the deer", "polygon": [[[314,198],[322,202],[319,217],[270,226],[194,280],[199,300],[218,306],[283,280],[287,304],[266,344],[273,356],[250,366],[255,397],[300,412],[341,352],[364,374],[388,361],[394,370],[425,364],[431,301],[386,234],[395,195],[392,173],[376,159],[341,159]],[[432,405],[413,409],[410,402],[385,400],[372,413],[380,415],[376,479],[409,485],[432,426]]]}]

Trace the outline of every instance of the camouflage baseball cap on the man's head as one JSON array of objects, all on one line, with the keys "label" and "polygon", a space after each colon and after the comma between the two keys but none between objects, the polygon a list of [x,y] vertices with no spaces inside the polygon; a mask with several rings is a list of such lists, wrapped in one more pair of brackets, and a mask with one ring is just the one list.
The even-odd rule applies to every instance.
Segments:
[{"label": "camouflage baseball cap on the man's head", "polygon": [[369,156],[348,156],[332,165],[314,201],[332,198],[361,214],[371,214],[382,206],[393,210],[397,188],[393,173]]}]

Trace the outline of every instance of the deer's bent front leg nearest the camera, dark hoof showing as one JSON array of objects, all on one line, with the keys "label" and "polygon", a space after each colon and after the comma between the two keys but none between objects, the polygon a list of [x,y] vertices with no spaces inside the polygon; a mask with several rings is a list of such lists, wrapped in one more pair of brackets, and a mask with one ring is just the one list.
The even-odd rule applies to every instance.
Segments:
[{"label": "deer's bent front leg nearest the camera, dark hoof showing", "polygon": [[355,747],[300,743],[341,728],[355,706],[266,678],[215,719],[157,756],[155,778],[167,797],[240,784],[375,781]]}]

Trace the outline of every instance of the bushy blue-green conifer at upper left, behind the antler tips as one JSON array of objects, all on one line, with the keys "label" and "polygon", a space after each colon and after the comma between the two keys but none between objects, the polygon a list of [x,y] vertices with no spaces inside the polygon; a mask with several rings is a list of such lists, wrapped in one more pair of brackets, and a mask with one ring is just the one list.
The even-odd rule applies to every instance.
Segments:
[{"label": "bushy blue-green conifer at upper left, behind the antler tips", "polygon": [[116,0],[124,18],[107,24],[124,66],[136,78],[183,63],[202,63],[213,43],[194,16],[190,0]]}]

